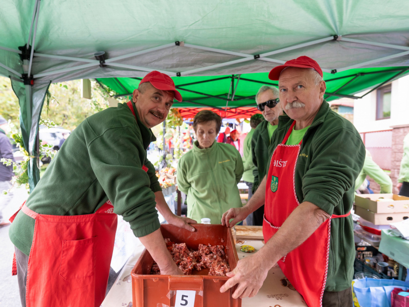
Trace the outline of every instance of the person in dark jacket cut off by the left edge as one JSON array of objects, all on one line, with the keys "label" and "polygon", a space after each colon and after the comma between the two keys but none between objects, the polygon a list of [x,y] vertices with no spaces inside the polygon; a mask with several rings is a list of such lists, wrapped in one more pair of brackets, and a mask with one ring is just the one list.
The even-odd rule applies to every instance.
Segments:
[{"label": "person in dark jacket cut off by the left edge", "polygon": [[[7,120],[0,116],[0,159],[11,159],[14,161],[13,149],[9,138],[6,136],[8,127]],[[9,225],[10,222],[3,219],[2,211],[7,207],[13,198],[13,194],[9,192],[11,188],[11,179],[13,178],[13,166],[6,166],[0,162],[0,227]],[[7,191],[7,194],[3,194]]]}]

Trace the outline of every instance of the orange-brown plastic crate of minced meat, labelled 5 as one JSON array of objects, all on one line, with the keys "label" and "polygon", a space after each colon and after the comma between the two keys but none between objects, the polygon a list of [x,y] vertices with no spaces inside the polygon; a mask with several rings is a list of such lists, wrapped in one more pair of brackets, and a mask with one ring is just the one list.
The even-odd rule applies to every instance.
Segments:
[{"label": "orange-brown plastic crate of minced meat, labelled 5", "polygon": [[[175,243],[186,243],[197,250],[199,244],[223,245],[231,271],[236,267],[238,256],[230,228],[222,225],[194,225],[190,232],[172,225],[161,225],[164,238]],[[194,307],[241,307],[241,299],[233,299],[237,286],[220,293],[220,287],[229,279],[226,276],[209,276],[209,269],[193,271],[194,275],[149,275],[153,259],[145,249],[132,269],[132,300],[134,307],[174,306],[177,290],[196,291]],[[195,275],[197,274],[197,275]]]}]

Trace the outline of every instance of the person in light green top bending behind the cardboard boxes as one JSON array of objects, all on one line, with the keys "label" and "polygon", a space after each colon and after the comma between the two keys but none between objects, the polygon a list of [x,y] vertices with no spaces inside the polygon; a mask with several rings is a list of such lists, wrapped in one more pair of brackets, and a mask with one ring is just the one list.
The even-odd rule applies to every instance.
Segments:
[{"label": "person in light green top bending behind the cardboard boxes", "polygon": [[367,176],[371,177],[380,186],[380,193],[392,193],[391,178],[372,160],[371,153],[366,150],[363,168],[355,181],[355,190],[365,181]]}]

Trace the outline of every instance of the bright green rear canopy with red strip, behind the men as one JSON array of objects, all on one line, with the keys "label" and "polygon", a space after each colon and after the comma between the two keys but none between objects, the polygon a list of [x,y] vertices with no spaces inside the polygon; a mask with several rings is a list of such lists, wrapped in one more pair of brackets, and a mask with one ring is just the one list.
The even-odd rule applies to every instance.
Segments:
[{"label": "bright green rear canopy with red strip, behind the men", "polygon": [[[377,87],[405,74],[409,67],[351,69],[336,75],[324,73],[327,101],[340,97],[359,99],[353,94]],[[202,109],[211,109],[223,118],[249,118],[260,113],[255,107],[255,93],[260,86],[278,85],[268,79],[268,73],[240,74],[212,77],[172,77],[183,101],[173,107],[179,109],[184,118],[193,118]],[[106,85],[118,95],[131,97],[142,78],[99,78],[101,86]]]}]

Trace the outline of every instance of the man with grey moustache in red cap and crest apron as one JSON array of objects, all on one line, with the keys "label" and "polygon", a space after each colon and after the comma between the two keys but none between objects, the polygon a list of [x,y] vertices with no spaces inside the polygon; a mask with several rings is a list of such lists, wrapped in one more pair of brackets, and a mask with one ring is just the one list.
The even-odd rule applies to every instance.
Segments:
[{"label": "man with grey moustache in red cap and crest apron", "polygon": [[233,226],[265,204],[266,244],[238,262],[221,291],[239,283],[233,297],[252,297],[278,264],[308,306],[352,306],[350,210],[365,146],[355,127],[323,99],[326,85],[316,61],[287,61],[269,78],[279,81],[286,115],[271,138],[267,175],[246,206],[230,209],[222,220]]}]

